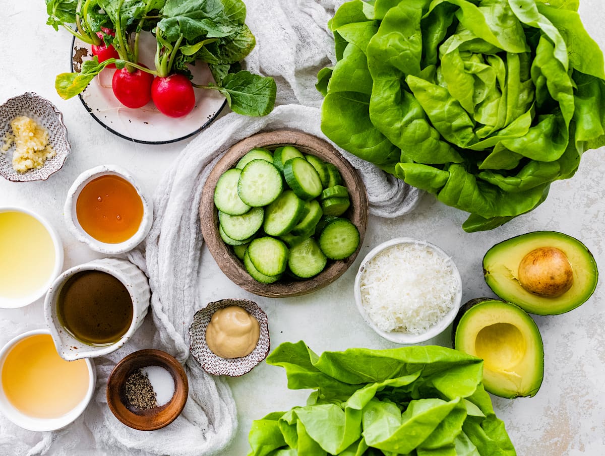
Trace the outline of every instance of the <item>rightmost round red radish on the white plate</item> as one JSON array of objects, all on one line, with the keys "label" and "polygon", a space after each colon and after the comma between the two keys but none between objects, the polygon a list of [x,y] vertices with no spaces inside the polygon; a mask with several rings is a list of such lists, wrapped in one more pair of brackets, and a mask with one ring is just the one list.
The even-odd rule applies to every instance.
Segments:
[{"label": "rightmost round red radish on the white plate", "polygon": [[195,106],[191,81],[184,74],[156,77],[151,84],[151,99],[155,107],[168,117],[183,117]]}]

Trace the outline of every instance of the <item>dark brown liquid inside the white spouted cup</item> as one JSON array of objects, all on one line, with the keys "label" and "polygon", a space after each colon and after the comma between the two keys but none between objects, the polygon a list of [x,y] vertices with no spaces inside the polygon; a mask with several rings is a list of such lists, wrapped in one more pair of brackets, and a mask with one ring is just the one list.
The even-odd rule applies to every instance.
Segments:
[{"label": "dark brown liquid inside the white spouted cup", "polygon": [[124,284],[103,271],[75,273],[57,299],[62,327],[88,345],[116,343],[128,331],[132,313],[132,299]]}]

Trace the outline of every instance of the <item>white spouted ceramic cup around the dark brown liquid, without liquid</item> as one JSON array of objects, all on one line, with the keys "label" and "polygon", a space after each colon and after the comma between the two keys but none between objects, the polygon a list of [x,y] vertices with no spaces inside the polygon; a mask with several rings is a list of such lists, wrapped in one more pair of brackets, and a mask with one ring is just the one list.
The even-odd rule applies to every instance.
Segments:
[{"label": "white spouted ceramic cup around the dark brown liquid, without liquid", "polygon": [[[63,284],[65,284],[67,279],[75,273],[90,270],[106,272],[119,279],[128,290],[130,298],[132,299],[132,322],[128,331],[126,331],[115,344],[84,344],[81,340],[71,336],[71,334],[65,330],[60,324],[57,316],[57,299],[59,298],[59,293]],[[50,334],[53,336],[57,352],[59,352],[60,357],[63,359],[73,361],[81,358],[105,356],[126,344],[128,339],[132,337],[132,334],[140,327],[149,308],[149,298],[151,298],[151,292],[149,290],[147,278],[134,264],[125,259],[118,258],[95,259],[68,269],[57,277],[46,295],[46,301],[44,302],[44,318],[48,328],[50,328]]]}]

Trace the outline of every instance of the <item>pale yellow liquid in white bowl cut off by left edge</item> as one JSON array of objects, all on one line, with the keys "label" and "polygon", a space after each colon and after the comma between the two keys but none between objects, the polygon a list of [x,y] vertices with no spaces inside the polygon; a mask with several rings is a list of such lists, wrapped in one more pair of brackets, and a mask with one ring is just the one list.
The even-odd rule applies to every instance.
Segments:
[{"label": "pale yellow liquid in white bowl cut off by left edge", "polygon": [[0,298],[24,298],[41,290],[53,275],[53,238],[35,217],[0,212]]}]

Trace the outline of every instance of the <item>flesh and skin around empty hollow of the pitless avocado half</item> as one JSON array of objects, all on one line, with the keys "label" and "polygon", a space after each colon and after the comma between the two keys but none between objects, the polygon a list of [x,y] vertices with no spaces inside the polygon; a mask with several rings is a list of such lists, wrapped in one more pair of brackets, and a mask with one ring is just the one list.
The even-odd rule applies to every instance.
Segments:
[{"label": "flesh and skin around empty hollow of the pitless avocado half", "polygon": [[[510,318],[511,315],[512,318]],[[485,321],[488,321],[489,324],[478,326],[477,322]],[[476,298],[466,302],[460,307],[454,320],[453,347],[463,353],[480,357],[474,350],[477,335],[484,327],[500,323],[514,325],[524,336],[527,349],[525,356],[518,364],[525,368],[525,371],[517,370],[521,370],[518,374],[526,379],[525,385],[517,388],[518,385],[506,381],[506,371],[510,369],[509,366],[503,366],[502,370],[498,371],[485,363],[485,360],[483,385],[486,391],[506,399],[535,396],[544,377],[544,345],[534,320],[517,305],[492,298]],[[471,350],[465,350],[465,348],[471,348]],[[493,364],[494,362],[491,363],[491,365]]]}]

